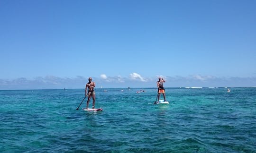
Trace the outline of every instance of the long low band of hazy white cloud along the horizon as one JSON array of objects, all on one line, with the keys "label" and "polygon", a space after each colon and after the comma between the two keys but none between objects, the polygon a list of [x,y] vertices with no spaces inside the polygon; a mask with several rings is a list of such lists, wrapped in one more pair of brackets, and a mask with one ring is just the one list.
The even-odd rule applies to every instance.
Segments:
[{"label": "long low band of hazy white cloud along the horizon", "polygon": [[[217,76],[165,76],[165,87],[223,87],[223,86],[256,86],[256,77],[217,77]],[[105,79],[102,79],[105,78]],[[93,77],[98,85],[104,87],[155,87],[157,78],[144,78],[137,73],[131,73],[129,77],[106,76]],[[84,76],[58,77],[38,76],[34,79],[25,77],[17,79],[0,79],[0,90],[5,89],[63,89],[63,88],[84,88],[87,83]],[[97,86],[99,87],[99,86]]]}]

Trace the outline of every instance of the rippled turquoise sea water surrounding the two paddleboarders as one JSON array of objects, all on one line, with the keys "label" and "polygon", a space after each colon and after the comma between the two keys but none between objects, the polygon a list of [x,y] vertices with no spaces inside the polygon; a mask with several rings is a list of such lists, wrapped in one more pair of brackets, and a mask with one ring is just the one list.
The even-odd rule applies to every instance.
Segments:
[{"label": "rippled turquoise sea water surrounding the two paddleboarders", "polygon": [[256,152],[256,88],[105,90],[0,91],[0,152]]}]

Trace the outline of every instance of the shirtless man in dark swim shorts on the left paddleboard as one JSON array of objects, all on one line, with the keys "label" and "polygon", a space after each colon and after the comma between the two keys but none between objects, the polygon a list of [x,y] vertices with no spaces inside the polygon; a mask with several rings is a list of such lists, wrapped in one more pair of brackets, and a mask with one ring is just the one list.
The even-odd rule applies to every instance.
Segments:
[{"label": "shirtless man in dark swim shorts on the left paddleboard", "polygon": [[[91,100],[92,97],[92,109],[95,109],[95,91],[94,91],[94,87],[95,87],[95,82],[91,82],[92,78],[89,77],[88,79],[88,83],[85,86],[85,96],[88,96],[88,100],[87,100],[87,104],[86,104],[86,109],[88,109],[89,106],[89,102]],[[87,93],[88,90],[88,93]]]}]

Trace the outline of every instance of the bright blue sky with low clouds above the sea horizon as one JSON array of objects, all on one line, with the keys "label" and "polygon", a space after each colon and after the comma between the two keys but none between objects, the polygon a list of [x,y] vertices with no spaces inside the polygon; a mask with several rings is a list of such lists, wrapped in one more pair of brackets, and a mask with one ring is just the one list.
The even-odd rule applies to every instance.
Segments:
[{"label": "bright blue sky with low clouds above the sea horizon", "polygon": [[256,86],[256,0],[0,0],[0,90]]}]

